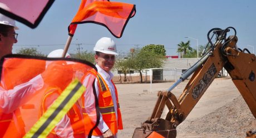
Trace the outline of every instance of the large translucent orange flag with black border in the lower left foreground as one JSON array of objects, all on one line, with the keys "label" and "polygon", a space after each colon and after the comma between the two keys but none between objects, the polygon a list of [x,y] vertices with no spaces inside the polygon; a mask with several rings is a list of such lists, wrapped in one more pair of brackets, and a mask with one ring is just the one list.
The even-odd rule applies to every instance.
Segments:
[{"label": "large translucent orange flag with black border in the lower left foreground", "polygon": [[[86,114],[91,121],[99,122],[97,95],[92,89],[96,70],[89,62],[71,58],[27,55],[3,57],[0,62],[0,137],[23,137],[74,79],[83,83],[86,89],[93,90],[83,92],[82,96],[90,96],[92,112]],[[76,94],[75,89],[60,103],[54,114],[45,120],[45,124],[51,122],[54,119],[52,116],[60,114],[62,107],[70,103],[72,94]],[[82,106],[85,105],[81,104],[81,99],[74,103],[69,104],[71,108],[67,114],[48,131],[48,137],[86,137],[88,134],[85,129],[92,131],[97,126],[97,123],[95,126],[85,126],[82,113]],[[37,134],[41,134],[45,128],[47,126],[42,125]]]}]

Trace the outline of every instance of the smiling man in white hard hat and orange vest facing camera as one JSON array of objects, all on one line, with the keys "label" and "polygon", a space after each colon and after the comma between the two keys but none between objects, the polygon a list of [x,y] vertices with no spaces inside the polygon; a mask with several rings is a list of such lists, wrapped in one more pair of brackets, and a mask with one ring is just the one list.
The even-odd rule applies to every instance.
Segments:
[{"label": "smiling man in white hard hat and orange vest facing camera", "polygon": [[[97,79],[95,80],[95,91],[99,102],[100,122],[96,129],[92,132],[92,138],[101,137],[117,137],[117,130],[123,129],[122,117],[119,106],[119,99],[114,82],[112,81],[113,74],[111,69],[115,64],[116,44],[111,38],[103,37],[97,41],[93,50],[96,52],[95,61],[97,68]],[[85,81],[83,81],[86,83]],[[88,89],[90,90],[90,89]],[[85,119],[85,126],[93,127],[96,122],[90,120],[90,106],[92,105],[90,99],[83,97],[83,116]],[[86,128],[85,128],[86,129]],[[86,129],[86,133],[88,135]]]}]

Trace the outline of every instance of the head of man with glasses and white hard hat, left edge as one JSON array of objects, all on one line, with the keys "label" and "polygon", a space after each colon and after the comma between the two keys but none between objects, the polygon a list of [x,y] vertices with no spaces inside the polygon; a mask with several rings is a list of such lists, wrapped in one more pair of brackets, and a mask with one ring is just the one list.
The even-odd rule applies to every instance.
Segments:
[{"label": "head of man with glasses and white hard hat, left edge", "polygon": [[13,19],[0,14],[0,58],[12,54],[12,46],[18,42],[16,29],[18,27],[16,27]]}]

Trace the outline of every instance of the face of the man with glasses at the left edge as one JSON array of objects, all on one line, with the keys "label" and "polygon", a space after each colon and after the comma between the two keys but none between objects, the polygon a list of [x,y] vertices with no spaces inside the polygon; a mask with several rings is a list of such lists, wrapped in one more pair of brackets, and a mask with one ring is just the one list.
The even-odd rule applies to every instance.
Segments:
[{"label": "face of the man with glasses at the left edge", "polygon": [[0,56],[6,54],[12,54],[13,43],[17,43],[18,40],[15,38],[15,31],[13,28],[10,28],[8,33],[0,33]]}]

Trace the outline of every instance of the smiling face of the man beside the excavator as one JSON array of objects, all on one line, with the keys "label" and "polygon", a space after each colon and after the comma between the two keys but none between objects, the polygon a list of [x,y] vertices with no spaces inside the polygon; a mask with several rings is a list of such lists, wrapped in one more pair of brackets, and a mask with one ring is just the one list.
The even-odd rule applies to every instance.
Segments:
[{"label": "smiling face of the man beside the excavator", "polygon": [[95,61],[105,71],[109,72],[115,64],[115,55],[101,53],[95,55]]}]

